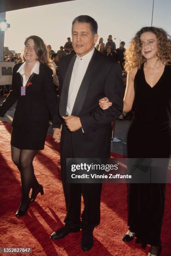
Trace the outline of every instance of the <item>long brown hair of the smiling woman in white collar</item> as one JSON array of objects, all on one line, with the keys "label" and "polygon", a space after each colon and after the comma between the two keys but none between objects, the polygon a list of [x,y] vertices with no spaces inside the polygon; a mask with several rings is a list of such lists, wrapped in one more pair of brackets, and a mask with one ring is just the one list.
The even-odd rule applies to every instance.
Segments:
[{"label": "long brown hair of the smiling woman in white collar", "polygon": [[[35,53],[38,56],[38,61],[42,64],[45,64],[49,67],[49,58],[48,58],[48,51],[46,49],[45,43],[43,42],[42,38],[39,36],[29,36],[25,39],[24,44],[27,44],[29,39],[33,39],[35,45]],[[25,61],[25,57],[23,55],[23,60]]]}]

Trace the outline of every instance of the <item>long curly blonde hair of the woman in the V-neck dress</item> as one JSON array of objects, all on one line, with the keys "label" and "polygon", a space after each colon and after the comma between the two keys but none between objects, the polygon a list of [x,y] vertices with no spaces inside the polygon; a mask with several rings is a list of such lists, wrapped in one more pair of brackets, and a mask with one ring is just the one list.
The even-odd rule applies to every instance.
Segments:
[{"label": "long curly blonde hair of the woman in the V-neck dress", "polygon": [[146,58],[142,55],[142,46],[140,36],[142,33],[152,32],[157,37],[158,51],[157,57],[163,64],[170,64],[171,62],[171,37],[162,28],[143,27],[136,33],[128,49],[125,52],[125,70],[131,71],[134,67],[140,69]]}]

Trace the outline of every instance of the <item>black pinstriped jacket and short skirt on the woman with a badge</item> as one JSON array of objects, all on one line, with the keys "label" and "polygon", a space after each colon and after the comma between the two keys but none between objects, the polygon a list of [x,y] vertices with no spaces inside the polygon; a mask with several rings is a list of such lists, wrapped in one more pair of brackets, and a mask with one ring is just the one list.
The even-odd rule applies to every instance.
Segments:
[{"label": "black pinstriped jacket and short skirt on the woman with a badge", "polygon": [[11,145],[19,149],[42,150],[49,120],[53,119],[57,106],[53,72],[40,64],[39,74],[33,73],[25,95],[21,95],[22,76],[17,72],[21,65],[18,63],[13,67],[12,90],[0,105],[0,116],[4,116],[18,101],[12,123]]}]

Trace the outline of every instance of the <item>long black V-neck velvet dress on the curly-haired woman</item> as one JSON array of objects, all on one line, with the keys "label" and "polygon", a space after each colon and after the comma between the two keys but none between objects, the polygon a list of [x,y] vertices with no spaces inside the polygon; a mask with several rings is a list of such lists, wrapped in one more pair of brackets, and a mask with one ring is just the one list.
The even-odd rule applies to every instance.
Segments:
[{"label": "long black V-neck velvet dress on the curly-haired woman", "polygon": [[[135,114],[127,136],[128,158],[170,158],[171,66],[151,87],[143,70],[134,79]],[[167,161],[167,160],[166,160]],[[166,175],[167,167],[163,168]],[[129,184],[128,225],[141,241],[158,246],[164,214],[165,184]]]}]

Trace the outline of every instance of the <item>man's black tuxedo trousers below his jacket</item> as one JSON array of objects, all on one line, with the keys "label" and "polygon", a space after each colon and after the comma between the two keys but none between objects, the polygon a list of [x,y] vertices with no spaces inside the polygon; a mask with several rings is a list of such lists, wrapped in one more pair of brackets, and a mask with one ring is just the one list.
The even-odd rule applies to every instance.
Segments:
[{"label": "man's black tuxedo trousers below his jacket", "polygon": [[[66,158],[73,158],[73,148],[71,132],[66,127],[64,130],[60,146],[60,162],[67,210],[65,226],[69,228],[80,227],[83,230],[91,231],[100,223],[102,184],[70,184],[66,182]],[[84,210],[80,216],[81,195],[83,195]]]}]

